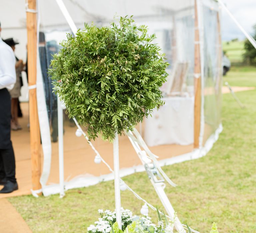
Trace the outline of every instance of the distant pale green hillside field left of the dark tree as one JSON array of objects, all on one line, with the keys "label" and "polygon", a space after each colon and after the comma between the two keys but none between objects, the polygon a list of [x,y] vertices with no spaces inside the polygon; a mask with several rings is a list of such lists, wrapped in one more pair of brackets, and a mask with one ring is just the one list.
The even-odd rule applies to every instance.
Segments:
[{"label": "distant pale green hillside field left of the dark tree", "polygon": [[226,55],[231,61],[231,64],[243,63],[244,41],[230,41],[222,43],[223,51],[226,51]]}]

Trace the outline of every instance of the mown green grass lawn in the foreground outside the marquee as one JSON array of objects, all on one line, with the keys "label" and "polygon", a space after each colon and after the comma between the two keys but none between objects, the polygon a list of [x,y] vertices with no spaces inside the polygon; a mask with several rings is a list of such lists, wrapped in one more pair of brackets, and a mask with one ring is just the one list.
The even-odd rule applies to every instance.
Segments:
[{"label": "mown green grass lawn in the foreground outside the marquee", "polygon": [[[256,68],[232,68],[224,81],[233,86],[256,86]],[[223,95],[223,132],[211,151],[200,159],[163,169],[176,183],[166,193],[183,223],[201,233],[213,221],[220,233],[256,232],[256,90],[236,93],[241,109],[230,94]],[[86,166],[86,164],[85,164]],[[153,205],[160,205],[145,172],[124,178]],[[73,189],[59,195],[9,198],[33,232],[86,232],[98,218],[97,210],[114,209],[113,181]],[[139,214],[142,202],[128,190],[122,206]],[[156,220],[156,213],[150,210]]]}]

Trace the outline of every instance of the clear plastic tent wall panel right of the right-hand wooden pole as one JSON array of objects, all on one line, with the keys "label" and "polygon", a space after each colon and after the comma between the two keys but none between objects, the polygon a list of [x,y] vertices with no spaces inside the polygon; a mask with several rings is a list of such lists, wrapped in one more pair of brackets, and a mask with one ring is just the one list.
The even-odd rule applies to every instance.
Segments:
[{"label": "clear plastic tent wall panel right of the right-hand wooden pole", "polygon": [[[222,44],[220,7],[217,2],[203,0],[201,48],[203,85],[203,144],[221,123]],[[201,124],[202,125],[202,124]]]}]

